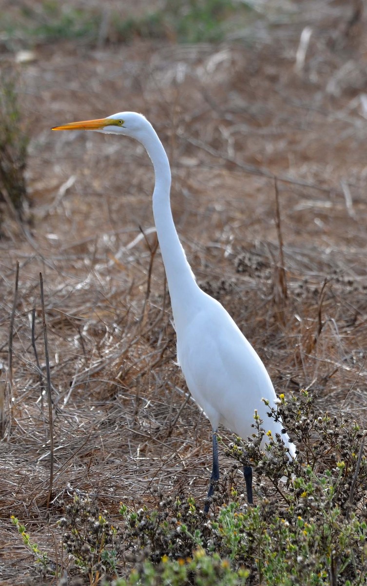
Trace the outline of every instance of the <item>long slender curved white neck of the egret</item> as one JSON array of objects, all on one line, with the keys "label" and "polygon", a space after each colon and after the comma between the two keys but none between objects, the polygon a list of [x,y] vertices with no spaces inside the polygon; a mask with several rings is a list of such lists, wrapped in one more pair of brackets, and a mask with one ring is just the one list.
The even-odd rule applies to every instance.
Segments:
[{"label": "long slender curved white neck of the egret", "polygon": [[171,170],[168,157],[154,128],[150,124],[149,127],[141,142],[154,167],[153,216],[177,331],[180,323],[195,312],[195,299],[202,292],[196,284],[172,218],[169,202]]}]

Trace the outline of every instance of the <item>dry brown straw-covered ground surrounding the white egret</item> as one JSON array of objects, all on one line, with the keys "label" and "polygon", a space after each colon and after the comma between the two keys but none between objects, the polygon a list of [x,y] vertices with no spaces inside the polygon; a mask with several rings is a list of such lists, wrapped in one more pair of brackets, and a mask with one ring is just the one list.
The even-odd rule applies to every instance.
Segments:
[{"label": "dry brown straw-covered ground surrounding the white egret", "polygon": [[[150,161],[128,139],[53,125],[146,114],[169,154],[174,218],[200,284],[236,319],[278,393],[307,387],[321,410],[343,408],[366,425],[366,26],[349,26],[342,4],[297,5],[283,24],[260,19],[237,42],[60,42],[36,47],[23,66],[32,223],[9,217],[0,243],[4,380],[20,265],[1,442],[1,584],[33,575],[11,515],[60,563],[58,496],[85,490],[113,516],[122,500],[154,503],[157,488],[200,500],[210,475],[209,423],[186,400],[161,257],[150,253]],[[55,442],[49,514],[48,411],[31,335],[35,304],[44,381],[40,271]]]}]

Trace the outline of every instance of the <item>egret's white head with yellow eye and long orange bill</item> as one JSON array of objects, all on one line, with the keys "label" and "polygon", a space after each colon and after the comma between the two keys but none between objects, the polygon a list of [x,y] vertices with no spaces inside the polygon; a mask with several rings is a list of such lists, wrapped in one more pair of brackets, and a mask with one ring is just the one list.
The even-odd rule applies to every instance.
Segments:
[{"label": "egret's white head with yellow eye and long orange bill", "polygon": [[107,118],[70,122],[56,126],[52,130],[95,130],[105,134],[124,134],[127,137],[143,141],[148,127],[150,127],[150,123],[143,114],[118,112]]}]

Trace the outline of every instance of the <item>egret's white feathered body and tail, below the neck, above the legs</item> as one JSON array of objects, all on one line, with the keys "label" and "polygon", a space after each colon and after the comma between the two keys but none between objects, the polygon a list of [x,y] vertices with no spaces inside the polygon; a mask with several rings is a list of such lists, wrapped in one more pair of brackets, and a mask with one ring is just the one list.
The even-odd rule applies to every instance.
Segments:
[{"label": "egret's white feathered body and tail, below the neck, above the legs", "polygon": [[[188,388],[213,429],[219,423],[247,438],[254,432],[255,409],[265,430],[282,434],[283,426],[268,417],[276,394],[261,359],[215,299],[203,294],[202,309],[177,332],[177,355]],[[288,443],[288,435],[282,434]],[[289,444],[293,453],[293,444]]]}]

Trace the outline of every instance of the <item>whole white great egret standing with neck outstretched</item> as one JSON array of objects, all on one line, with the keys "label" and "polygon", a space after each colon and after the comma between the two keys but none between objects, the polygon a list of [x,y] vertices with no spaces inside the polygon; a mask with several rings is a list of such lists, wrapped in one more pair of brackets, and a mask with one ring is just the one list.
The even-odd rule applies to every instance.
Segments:
[{"label": "whole white great egret standing with neck outstretched", "polygon": [[[123,134],[146,148],[155,173],[153,216],[167,275],[177,336],[177,358],[187,386],[213,429],[213,468],[207,497],[219,479],[217,429],[219,424],[247,438],[254,412],[272,434],[281,434],[290,457],[295,445],[281,421],[267,416],[262,398],[275,406],[276,394],[264,364],[226,309],[196,284],[172,219],[169,194],[171,170],[167,154],[153,126],[141,114],[119,112],[108,118],[71,122],[53,130],[94,130]],[[265,440],[266,441],[266,435]],[[244,467],[247,499],[252,503],[252,471]],[[209,509],[207,502],[205,511]]]}]

